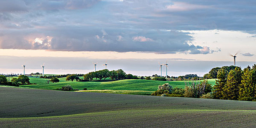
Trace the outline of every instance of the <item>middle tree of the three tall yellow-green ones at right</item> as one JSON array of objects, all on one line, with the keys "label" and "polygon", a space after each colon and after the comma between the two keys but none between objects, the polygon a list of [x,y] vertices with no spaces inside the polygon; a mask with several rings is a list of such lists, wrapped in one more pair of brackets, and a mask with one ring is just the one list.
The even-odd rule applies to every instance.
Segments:
[{"label": "middle tree of the three tall yellow-green ones at right", "polygon": [[242,70],[236,67],[227,75],[227,83],[223,87],[223,99],[237,100],[241,84]]}]

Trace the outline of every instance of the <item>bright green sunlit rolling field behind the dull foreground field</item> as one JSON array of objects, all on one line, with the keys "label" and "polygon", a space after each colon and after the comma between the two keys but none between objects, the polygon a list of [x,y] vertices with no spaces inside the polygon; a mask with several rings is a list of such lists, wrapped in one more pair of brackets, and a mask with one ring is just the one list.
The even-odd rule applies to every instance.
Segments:
[{"label": "bright green sunlit rolling field behind the dull foreground field", "polygon": [[[41,78],[38,79],[40,82]],[[31,79],[32,80],[32,79]],[[64,78],[60,78],[60,81],[64,81]],[[33,82],[36,82],[35,80]],[[209,79],[209,83],[215,84],[215,79]],[[152,91],[158,89],[158,85],[169,83],[173,87],[184,88],[184,81],[157,81],[157,80],[117,80],[112,82],[59,82],[49,84],[33,84],[33,85],[22,85],[20,87],[31,87],[36,89],[60,89],[65,85],[71,85],[73,89],[83,90],[136,90],[141,91],[141,94],[150,95]],[[144,91],[148,91],[145,93]],[[95,92],[95,91],[92,91]],[[137,92],[138,93],[138,92]]]}]

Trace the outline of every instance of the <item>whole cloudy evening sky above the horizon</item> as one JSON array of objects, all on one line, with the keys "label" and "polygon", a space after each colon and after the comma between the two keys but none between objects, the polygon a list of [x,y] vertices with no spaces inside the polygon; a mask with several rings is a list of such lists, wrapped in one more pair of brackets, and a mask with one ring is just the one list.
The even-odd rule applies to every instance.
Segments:
[{"label": "whole cloudy evening sky above the horizon", "polygon": [[[254,0],[1,0],[0,74],[203,76],[255,64]],[[166,74],[163,67],[162,74]]]}]

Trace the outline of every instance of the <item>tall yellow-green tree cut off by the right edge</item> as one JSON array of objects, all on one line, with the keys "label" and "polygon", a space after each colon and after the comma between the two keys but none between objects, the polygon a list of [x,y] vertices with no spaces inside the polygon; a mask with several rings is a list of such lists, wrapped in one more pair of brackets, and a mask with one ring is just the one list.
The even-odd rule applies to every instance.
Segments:
[{"label": "tall yellow-green tree cut off by the right edge", "polygon": [[251,67],[246,67],[243,71],[241,86],[239,89],[239,98],[254,97],[256,84],[256,71]]}]

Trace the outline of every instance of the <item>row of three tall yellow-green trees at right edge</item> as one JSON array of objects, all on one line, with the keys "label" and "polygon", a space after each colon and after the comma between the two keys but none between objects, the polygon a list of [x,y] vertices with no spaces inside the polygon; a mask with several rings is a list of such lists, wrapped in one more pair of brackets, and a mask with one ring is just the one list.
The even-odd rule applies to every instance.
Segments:
[{"label": "row of three tall yellow-green trees at right edge", "polygon": [[255,101],[256,99],[256,65],[246,67],[242,71],[235,67],[230,71],[219,69],[214,98],[230,100]]}]

